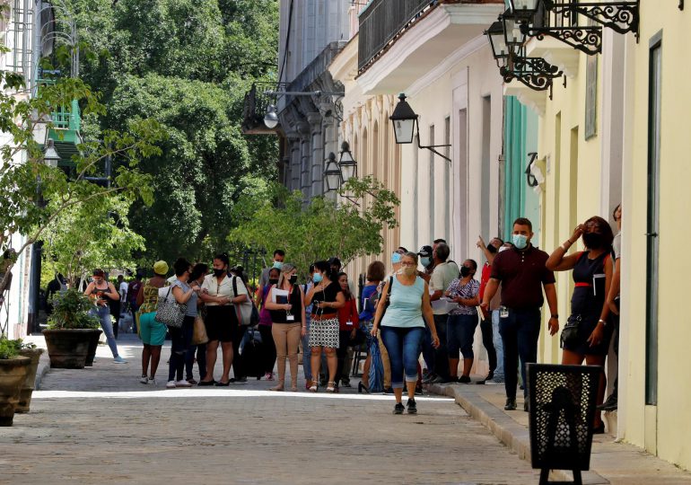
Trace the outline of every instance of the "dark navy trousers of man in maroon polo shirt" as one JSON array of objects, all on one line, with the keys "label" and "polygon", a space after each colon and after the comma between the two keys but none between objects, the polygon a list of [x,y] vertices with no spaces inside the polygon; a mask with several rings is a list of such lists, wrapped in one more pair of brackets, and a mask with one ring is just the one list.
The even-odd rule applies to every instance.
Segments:
[{"label": "dark navy trousers of man in maroon polo shirt", "polygon": [[499,333],[503,341],[504,387],[506,397],[516,399],[518,385],[518,359],[523,396],[528,396],[526,365],[538,361],[538,337],[540,335],[540,309],[509,309],[509,316],[499,318]]}]

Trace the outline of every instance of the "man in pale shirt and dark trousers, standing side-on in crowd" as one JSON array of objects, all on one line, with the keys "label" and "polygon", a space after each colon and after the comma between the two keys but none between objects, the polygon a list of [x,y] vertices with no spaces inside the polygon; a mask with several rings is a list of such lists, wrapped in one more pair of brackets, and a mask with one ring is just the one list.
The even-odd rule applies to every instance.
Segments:
[{"label": "man in pale shirt and dark trousers, standing side-on in crowd", "polygon": [[[449,256],[449,246],[445,242],[437,242],[436,247],[432,250],[434,268],[429,282],[430,291],[432,292],[430,302],[432,304],[432,313],[434,314],[434,328],[439,337],[439,346],[433,351],[433,375],[428,378],[432,384],[449,384],[452,382],[450,378],[448,344],[446,341],[449,305],[445,300],[442,300],[442,296],[450,286],[451,281],[459,278],[459,267],[455,262],[448,261]],[[431,335],[427,335],[428,344],[431,343],[431,337]],[[453,370],[452,374],[456,375],[456,372],[457,370]],[[455,382],[455,379],[453,382]]]}]

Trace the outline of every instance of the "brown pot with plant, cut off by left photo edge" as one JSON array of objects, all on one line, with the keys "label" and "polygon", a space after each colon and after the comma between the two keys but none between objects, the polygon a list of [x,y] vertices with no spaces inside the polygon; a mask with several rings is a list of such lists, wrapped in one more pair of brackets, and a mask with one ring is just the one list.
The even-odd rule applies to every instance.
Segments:
[{"label": "brown pot with plant, cut off by left photo edge", "polygon": [[16,340],[0,337],[0,426],[12,426],[31,359],[19,355]]}]

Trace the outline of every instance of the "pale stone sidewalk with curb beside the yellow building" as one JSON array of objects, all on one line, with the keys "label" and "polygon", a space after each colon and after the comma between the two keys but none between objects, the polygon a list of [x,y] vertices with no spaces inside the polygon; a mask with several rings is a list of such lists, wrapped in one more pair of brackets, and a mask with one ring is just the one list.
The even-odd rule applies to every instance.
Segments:
[{"label": "pale stone sidewalk with curb beside the yellow building", "polygon": [[[522,395],[519,392],[518,410],[505,411],[503,405],[506,396],[503,384],[476,385],[476,377],[473,377],[473,384],[433,384],[427,386],[427,390],[453,398],[504,445],[529,462],[528,413],[522,410]],[[554,474],[561,480],[572,480],[571,472]],[[605,434],[593,437],[590,472],[583,472],[582,479],[584,484],[591,485],[673,485],[691,484],[691,473],[684,472],[641,448],[617,443],[614,437]]]}]

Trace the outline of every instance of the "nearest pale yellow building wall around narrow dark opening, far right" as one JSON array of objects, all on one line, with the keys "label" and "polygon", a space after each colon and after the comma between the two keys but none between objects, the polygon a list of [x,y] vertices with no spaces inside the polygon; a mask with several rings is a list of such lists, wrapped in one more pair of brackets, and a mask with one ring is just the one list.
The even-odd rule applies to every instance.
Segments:
[{"label": "nearest pale yellow building wall around narrow dark opening, far right", "polygon": [[[634,50],[633,136],[625,160],[623,322],[629,352],[625,386],[625,440],[661,458],[691,468],[691,376],[687,372],[691,318],[684,283],[691,263],[683,256],[691,239],[691,95],[688,32],[691,10],[677,2],[641,3],[641,39]],[[657,406],[645,405],[645,310],[648,186],[648,99],[650,40],[662,33],[660,144],[660,304]],[[621,398],[620,398],[621,401]]]}]

